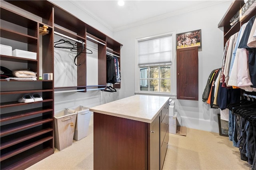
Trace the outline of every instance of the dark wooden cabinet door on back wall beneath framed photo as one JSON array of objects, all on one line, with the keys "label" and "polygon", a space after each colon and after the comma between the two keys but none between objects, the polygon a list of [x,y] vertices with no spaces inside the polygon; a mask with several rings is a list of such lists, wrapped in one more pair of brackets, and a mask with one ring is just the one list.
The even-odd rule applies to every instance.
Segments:
[{"label": "dark wooden cabinet door on back wall beneath framed photo", "polygon": [[177,49],[177,99],[198,101],[198,47]]}]

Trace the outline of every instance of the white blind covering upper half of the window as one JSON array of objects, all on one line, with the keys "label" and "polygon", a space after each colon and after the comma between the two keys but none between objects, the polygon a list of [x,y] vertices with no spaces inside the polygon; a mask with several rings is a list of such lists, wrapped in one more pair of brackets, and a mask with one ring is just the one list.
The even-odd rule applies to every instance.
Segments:
[{"label": "white blind covering upper half of the window", "polygon": [[138,42],[138,65],[172,63],[172,35]]}]

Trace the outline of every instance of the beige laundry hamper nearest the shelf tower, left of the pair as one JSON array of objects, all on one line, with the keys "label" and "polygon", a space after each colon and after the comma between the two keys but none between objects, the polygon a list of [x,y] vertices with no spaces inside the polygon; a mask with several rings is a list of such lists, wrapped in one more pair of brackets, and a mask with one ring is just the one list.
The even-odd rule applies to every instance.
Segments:
[{"label": "beige laundry hamper nearest the shelf tower, left of the pair", "polygon": [[54,112],[54,144],[62,150],[73,143],[77,112],[64,109]]}]

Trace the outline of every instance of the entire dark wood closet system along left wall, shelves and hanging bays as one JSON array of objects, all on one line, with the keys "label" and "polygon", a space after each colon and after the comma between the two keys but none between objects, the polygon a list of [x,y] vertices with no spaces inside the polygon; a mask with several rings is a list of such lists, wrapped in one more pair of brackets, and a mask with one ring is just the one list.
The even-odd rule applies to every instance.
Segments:
[{"label": "entire dark wood closet system along left wall, shelves and hanging bays", "polygon": [[[104,88],[107,71],[106,52],[120,56],[122,44],[49,1],[2,2],[1,38],[10,40],[10,43],[26,43],[25,50],[37,53],[37,59],[0,55],[1,61],[27,64],[27,68],[24,69],[38,73],[37,81],[0,80],[0,94],[5,99],[0,103],[0,166],[3,170],[26,169],[54,153],[54,91],[86,92],[87,88]],[[6,26],[6,23],[22,27],[22,30],[12,29],[12,26]],[[44,25],[48,26],[49,33],[41,36],[39,27]],[[24,32],[23,28],[27,31]],[[98,44],[98,85],[88,87],[86,84],[86,53],[80,54],[77,58],[77,63],[81,65],[77,68],[79,79],[76,87],[54,88],[54,79],[39,80],[40,71],[54,74],[54,32],[82,40],[85,48],[86,41]],[[119,63],[120,59],[121,56],[118,58]],[[28,87],[31,89],[28,90]],[[114,87],[120,88],[120,83]],[[19,103],[17,96],[27,93],[39,93],[43,101]]]}]

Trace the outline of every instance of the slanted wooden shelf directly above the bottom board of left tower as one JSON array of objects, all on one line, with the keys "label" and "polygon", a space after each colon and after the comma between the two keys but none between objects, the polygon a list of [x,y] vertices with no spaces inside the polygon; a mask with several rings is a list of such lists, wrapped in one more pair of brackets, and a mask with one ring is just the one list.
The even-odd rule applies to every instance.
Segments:
[{"label": "slanted wooden shelf directly above the bottom board of left tower", "polygon": [[27,145],[25,145],[23,147],[20,147],[20,148],[16,149],[16,150],[12,150],[11,152],[8,152],[7,154],[3,154],[3,155],[1,155],[1,161],[6,160],[6,159],[8,159],[8,158],[10,158],[12,156],[15,156],[15,155],[17,155],[17,154],[19,154],[21,152],[24,152],[24,151],[26,151],[26,150],[28,150],[30,148],[33,148],[33,147],[35,147],[35,146],[37,146],[39,144],[42,144],[42,143],[44,143],[44,142],[46,142],[48,140],[51,140],[52,138],[53,138],[52,136],[49,136],[49,137],[46,137],[46,138],[42,138],[41,140],[37,140],[35,142],[27,144]]}]

